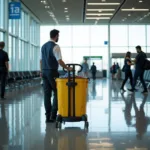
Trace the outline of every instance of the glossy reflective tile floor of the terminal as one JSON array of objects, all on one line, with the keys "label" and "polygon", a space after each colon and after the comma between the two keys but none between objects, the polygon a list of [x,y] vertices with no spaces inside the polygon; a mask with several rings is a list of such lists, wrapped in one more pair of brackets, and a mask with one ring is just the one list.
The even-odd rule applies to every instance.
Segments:
[{"label": "glossy reflective tile floor of the terminal", "polygon": [[[150,150],[150,97],[121,94],[119,81],[90,81],[84,123],[45,124],[41,86],[0,101],[0,150]],[[140,91],[140,90],[139,90]]]}]

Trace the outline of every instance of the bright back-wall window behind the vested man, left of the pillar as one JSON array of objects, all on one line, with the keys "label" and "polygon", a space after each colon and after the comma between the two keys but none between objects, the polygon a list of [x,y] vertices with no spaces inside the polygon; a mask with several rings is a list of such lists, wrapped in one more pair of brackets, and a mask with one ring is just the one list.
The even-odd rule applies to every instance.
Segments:
[{"label": "bright back-wall window behind the vested man, left of the pillar", "polygon": [[60,31],[58,44],[65,63],[81,64],[84,56],[102,56],[104,63],[99,68],[107,68],[108,48],[104,41],[108,41],[108,26],[42,26],[41,46],[54,28]]}]

